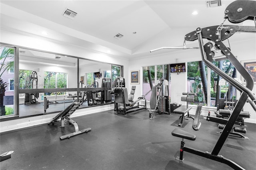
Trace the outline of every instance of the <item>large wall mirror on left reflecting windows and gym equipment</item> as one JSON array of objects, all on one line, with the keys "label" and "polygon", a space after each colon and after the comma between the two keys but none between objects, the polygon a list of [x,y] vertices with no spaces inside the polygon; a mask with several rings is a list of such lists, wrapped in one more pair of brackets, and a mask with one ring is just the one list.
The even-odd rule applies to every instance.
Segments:
[{"label": "large wall mirror on left reflecting windows and gym equipment", "polygon": [[111,64],[19,48],[18,65],[20,117],[112,103]]}]

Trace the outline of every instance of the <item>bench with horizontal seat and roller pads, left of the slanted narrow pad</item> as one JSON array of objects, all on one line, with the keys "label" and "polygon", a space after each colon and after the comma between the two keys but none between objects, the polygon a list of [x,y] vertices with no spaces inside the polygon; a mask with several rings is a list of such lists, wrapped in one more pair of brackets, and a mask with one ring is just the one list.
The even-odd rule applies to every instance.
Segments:
[{"label": "bench with horizontal seat and roller pads, left of the slanted narrow pad", "polygon": [[186,101],[186,105],[182,105],[173,111],[174,113],[182,114],[182,116],[180,116],[180,123],[176,125],[178,127],[183,127],[182,124],[184,119],[188,117],[194,119],[194,117],[189,115],[189,111],[192,109],[192,106],[188,106],[188,102],[194,102],[194,97],[188,96],[195,95],[195,93],[182,93],[182,95],[186,95],[186,97],[181,97],[181,101]]}]

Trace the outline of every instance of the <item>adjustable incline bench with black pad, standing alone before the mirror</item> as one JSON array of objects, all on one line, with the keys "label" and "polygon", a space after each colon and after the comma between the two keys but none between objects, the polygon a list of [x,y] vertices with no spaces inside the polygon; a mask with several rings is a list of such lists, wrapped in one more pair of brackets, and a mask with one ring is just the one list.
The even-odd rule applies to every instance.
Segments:
[{"label": "adjustable incline bench with black pad, standing alone before the mirror", "polygon": [[84,101],[85,101],[85,92],[83,91],[80,101],[79,101],[78,97],[76,99],[74,99],[74,101],[72,102],[71,105],[66,107],[66,109],[64,109],[62,112],[60,112],[56,117],[54,117],[52,119],[52,121],[50,121],[50,123],[48,123],[48,125],[50,125],[51,123],[52,123],[52,125],[54,125],[54,123],[57,122],[58,119],[60,119],[60,122],[61,122],[60,127],[61,128],[65,127],[66,122],[68,122],[70,125],[74,126],[75,132],[60,136],[60,140],[65,139],[65,138],[70,138],[70,137],[75,136],[77,134],[81,134],[81,133],[84,133],[84,132],[89,132],[90,130],[92,130],[91,128],[85,128],[83,130],[79,130],[77,123],[70,118],[72,113],[74,113],[76,111],[76,109],[78,109]]}]

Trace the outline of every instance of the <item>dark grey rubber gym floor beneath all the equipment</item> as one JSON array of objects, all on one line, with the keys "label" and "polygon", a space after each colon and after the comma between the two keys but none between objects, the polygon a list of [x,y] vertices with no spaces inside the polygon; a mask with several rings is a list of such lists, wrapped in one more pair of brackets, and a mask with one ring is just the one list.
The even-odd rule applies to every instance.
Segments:
[{"label": "dark grey rubber gym floor beneath all the equipment", "polygon": [[[39,125],[0,134],[1,153],[13,150],[11,158],[0,164],[1,170],[227,170],[229,166],[184,153],[179,155],[181,138],[171,135],[172,124],[179,114],[158,115],[149,119],[146,110],[116,115],[105,111],[73,120],[79,129],[92,128],[88,133],[60,140],[74,132],[74,127],[60,128]],[[54,115],[53,115],[54,117]],[[192,119],[182,128],[196,134],[196,140],[186,140],[186,146],[211,152],[220,134],[216,123],[201,119],[199,131],[192,129]],[[233,160],[246,170],[256,167],[256,125],[246,123],[249,140],[230,136],[220,155]]]}]

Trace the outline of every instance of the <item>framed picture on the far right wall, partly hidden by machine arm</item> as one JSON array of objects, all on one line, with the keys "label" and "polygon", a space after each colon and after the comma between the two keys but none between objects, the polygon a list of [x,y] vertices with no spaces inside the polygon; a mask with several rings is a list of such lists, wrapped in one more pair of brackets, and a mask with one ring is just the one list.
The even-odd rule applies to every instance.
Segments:
[{"label": "framed picture on the far right wall, partly hidden by machine arm", "polygon": [[[246,71],[252,76],[254,84],[256,84],[256,59],[241,61]],[[246,83],[244,77],[241,76],[242,83]]]}]

